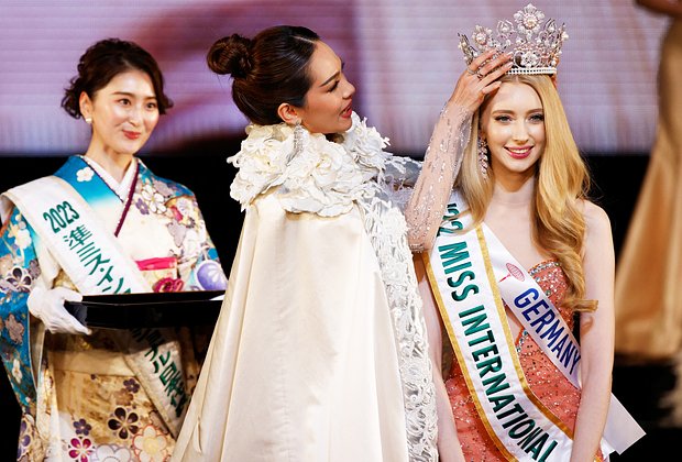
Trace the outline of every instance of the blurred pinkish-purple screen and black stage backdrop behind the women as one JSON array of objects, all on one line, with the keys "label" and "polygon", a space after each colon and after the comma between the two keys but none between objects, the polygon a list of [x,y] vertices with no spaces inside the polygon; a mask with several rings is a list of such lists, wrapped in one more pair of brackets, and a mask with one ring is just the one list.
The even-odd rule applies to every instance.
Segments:
[{"label": "blurred pinkish-purple screen and black stage backdrop behind the women", "polygon": [[[148,50],[175,107],[141,158],[199,200],[229,272],[242,217],[229,197],[245,119],[229,77],[205,55],[217,38],[252,36],[275,24],[318,32],[345,62],[358,88],[354,109],[402,155],[421,157],[442,103],[464,68],[458,33],[494,28],[525,0],[0,0],[0,190],[53,173],[85,152],[89,130],[59,108],[85,50],[105,37]],[[593,198],[612,219],[616,251],[632,211],[657,124],[656,72],[666,20],[624,0],[538,0],[568,25],[559,91],[594,176]],[[13,460],[19,410],[0,374],[0,461]],[[671,363],[617,358],[614,393],[648,431],[624,457],[670,448],[682,430],[660,397],[672,389]],[[682,393],[682,392],[681,392]],[[682,409],[680,409],[682,411]]]}]

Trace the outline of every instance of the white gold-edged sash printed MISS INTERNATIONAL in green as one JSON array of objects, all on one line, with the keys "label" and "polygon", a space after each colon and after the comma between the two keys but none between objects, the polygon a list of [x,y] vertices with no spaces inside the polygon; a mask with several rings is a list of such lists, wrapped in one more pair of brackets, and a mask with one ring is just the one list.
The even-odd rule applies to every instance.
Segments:
[{"label": "white gold-edged sash printed MISS INTERNATIONAL in green", "polygon": [[476,410],[507,460],[568,461],[572,433],[522,374],[483,233],[438,238],[427,271]]}]

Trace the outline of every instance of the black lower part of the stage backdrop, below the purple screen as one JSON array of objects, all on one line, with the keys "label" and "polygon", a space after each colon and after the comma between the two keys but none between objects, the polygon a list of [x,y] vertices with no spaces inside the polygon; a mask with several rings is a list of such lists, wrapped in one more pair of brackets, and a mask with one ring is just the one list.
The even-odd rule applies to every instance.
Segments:
[{"label": "black lower part of the stage backdrop, below the purple screen", "polygon": [[[167,152],[141,157],[162,177],[179,182],[195,191],[208,231],[216,244],[226,273],[229,273],[242,224],[239,204],[229,197],[234,169],[226,158],[239,150],[238,140],[228,140],[218,147],[200,146],[188,156]],[[54,173],[64,156],[0,158],[0,190]],[[646,154],[595,154],[586,156],[594,187],[592,198],[608,213],[614,245],[619,251],[649,161]],[[668,409],[660,408],[658,398],[672,388],[674,376],[671,364],[637,363],[617,358],[614,369],[614,394],[647,431],[647,436],[624,455],[612,460],[639,461],[671,448],[682,437],[682,429],[663,427],[661,419]],[[7,376],[0,374],[0,461],[15,459],[19,435],[19,407]],[[659,452],[657,452],[659,451]]]}]

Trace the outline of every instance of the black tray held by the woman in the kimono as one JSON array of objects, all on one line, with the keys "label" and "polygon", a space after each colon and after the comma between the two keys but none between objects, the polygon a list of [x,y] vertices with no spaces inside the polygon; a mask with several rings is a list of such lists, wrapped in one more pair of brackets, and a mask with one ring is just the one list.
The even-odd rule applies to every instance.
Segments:
[{"label": "black tray held by the woman in the kimono", "polygon": [[[64,306],[84,326],[98,329],[213,326],[224,290],[88,295]],[[221,297],[222,298],[222,297]]]}]

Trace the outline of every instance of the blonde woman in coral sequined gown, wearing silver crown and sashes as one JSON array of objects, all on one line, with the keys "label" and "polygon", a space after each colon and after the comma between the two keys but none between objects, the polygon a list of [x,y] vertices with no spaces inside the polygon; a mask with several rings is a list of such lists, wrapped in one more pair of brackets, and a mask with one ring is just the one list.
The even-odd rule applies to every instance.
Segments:
[{"label": "blonde woman in coral sequined gown, wearing silver crown and sashes", "polygon": [[513,67],[472,108],[471,124],[453,128],[469,140],[454,191],[425,174],[406,209],[410,230],[430,230],[409,235],[422,251],[415,263],[435,375],[446,374],[436,381],[441,459],[594,461],[642,435],[609,394],[609,220],[585,196],[554,87],[564,26],[531,4],[514,19],[501,36],[476,26],[471,44],[462,38],[464,78],[486,76],[475,57],[490,50],[512,53]]}]

